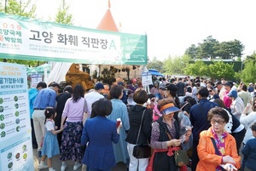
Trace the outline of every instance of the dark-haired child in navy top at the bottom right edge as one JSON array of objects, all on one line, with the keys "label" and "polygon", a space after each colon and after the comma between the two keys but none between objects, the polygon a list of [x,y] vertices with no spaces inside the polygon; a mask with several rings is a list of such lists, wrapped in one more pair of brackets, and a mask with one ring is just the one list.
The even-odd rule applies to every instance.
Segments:
[{"label": "dark-haired child in navy top at the bottom right edge", "polygon": [[[253,136],[256,138],[256,123],[252,125]],[[256,139],[247,140],[247,144],[241,149],[243,154],[244,171],[253,171],[256,168]]]}]

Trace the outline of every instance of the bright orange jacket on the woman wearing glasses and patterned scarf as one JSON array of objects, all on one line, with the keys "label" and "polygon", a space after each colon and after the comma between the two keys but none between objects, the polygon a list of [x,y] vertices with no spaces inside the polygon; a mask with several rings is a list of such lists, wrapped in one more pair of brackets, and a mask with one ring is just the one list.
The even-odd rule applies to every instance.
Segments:
[{"label": "bright orange jacket on the woman wearing glasses and patterned scarf", "polygon": [[[200,161],[197,164],[196,171],[215,171],[216,167],[222,164],[222,157],[215,154],[215,148],[211,138],[213,138],[212,128],[208,128],[208,130],[202,131],[200,134],[200,140],[197,146]],[[241,157],[238,156],[236,151],[236,140],[230,134],[228,134],[224,140],[225,156],[230,155],[236,162],[236,168],[240,168]]]}]

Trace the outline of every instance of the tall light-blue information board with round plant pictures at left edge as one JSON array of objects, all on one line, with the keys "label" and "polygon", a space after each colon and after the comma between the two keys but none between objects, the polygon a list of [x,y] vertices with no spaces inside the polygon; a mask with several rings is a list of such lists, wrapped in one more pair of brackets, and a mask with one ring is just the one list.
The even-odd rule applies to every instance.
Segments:
[{"label": "tall light-blue information board with round plant pictures at left edge", "polygon": [[0,170],[32,171],[26,67],[0,63]]}]

